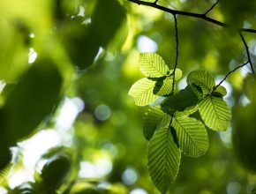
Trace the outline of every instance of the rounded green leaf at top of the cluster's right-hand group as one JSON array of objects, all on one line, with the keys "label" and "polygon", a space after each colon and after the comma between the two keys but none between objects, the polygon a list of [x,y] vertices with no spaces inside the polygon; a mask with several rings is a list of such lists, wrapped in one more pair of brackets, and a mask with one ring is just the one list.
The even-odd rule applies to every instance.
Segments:
[{"label": "rounded green leaf at top of the cluster's right-hand group", "polygon": [[204,95],[208,94],[215,86],[215,78],[207,71],[192,71],[186,79],[188,85],[200,86]]}]

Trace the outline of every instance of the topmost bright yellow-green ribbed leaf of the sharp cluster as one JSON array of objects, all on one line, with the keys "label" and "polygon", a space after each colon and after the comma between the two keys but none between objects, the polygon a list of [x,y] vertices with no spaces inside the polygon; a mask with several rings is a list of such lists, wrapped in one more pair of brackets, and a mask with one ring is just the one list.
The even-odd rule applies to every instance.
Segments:
[{"label": "topmost bright yellow-green ribbed leaf of the sharp cluster", "polygon": [[169,68],[162,56],[156,53],[139,54],[139,70],[147,78],[160,78],[169,74]]}]

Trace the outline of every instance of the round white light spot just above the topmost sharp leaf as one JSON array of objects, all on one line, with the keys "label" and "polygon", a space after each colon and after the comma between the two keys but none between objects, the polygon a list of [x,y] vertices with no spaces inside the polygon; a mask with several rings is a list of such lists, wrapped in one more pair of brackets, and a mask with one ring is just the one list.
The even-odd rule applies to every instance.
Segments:
[{"label": "round white light spot just above the topmost sharp leaf", "polygon": [[145,35],[140,35],[137,39],[137,48],[142,53],[154,53],[158,49],[157,43]]}]

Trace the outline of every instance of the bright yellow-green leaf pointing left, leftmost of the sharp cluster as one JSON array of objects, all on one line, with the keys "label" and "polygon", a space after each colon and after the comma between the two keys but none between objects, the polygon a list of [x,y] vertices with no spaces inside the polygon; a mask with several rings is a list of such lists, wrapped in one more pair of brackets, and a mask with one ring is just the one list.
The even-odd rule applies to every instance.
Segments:
[{"label": "bright yellow-green leaf pointing left, leftmost of the sharp cluster", "polygon": [[132,85],[128,95],[132,96],[136,105],[146,106],[158,98],[153,94],[154,84],[155,82],[148,78],[141,78]]}]

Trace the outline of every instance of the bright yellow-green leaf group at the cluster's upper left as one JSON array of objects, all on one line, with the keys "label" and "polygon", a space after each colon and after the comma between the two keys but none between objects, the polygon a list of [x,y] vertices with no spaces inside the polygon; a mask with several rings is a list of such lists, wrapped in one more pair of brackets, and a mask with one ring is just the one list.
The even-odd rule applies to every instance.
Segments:
[{"label": "bright yellow-green leaf group at the cluster's upper left", "polygon": [[[129,91],[129,95],[133,97],[136,105],[146,106],[159,96],[172,93],[173,70],[169,70],[161,56],[154,53],[141,53],[139,55],[139,70],[147,78],[139,79]],[[181,76],[182,71],[176,69],[175,81]]]}]

